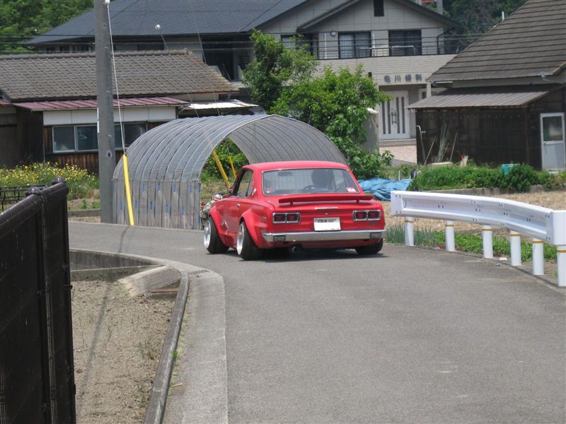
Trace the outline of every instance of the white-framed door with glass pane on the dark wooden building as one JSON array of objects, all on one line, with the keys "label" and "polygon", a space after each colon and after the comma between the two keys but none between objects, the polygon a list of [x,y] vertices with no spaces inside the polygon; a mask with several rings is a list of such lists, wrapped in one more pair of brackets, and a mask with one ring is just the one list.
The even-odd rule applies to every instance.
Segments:
[{"label": "white-framed door with glass pane on the dark wooden building", "polygon": [[566,137],[563,113],[541,113],[543,169],[566,169]]}]

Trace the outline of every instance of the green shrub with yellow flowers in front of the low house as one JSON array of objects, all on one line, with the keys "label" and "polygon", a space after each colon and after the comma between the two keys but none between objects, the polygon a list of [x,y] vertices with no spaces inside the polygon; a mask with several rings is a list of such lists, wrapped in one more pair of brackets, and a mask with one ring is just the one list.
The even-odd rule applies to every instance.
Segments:
[{"label": "green shrub with yellow flowers in front of the low house", "polygon": [[63,177],[69,185],[69,199],[91,197],[98,189],[98,178],[88,175],[86,170],[74,165],[59,167],[49,162],[0,169],[0,187],[49,185],[56,177]]}]

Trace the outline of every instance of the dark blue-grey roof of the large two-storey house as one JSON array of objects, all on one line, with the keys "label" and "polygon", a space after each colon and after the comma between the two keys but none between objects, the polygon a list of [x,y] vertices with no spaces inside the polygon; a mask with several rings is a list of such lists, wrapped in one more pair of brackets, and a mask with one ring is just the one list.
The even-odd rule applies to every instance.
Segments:
[{"label": "dark blue-grey roof of the large two-storey house", "polygon": [[[113,36],[247,33],[309,0],[119,0],[110,3]],[[31,44],[94,37],[88,11],[35,37]]]}]

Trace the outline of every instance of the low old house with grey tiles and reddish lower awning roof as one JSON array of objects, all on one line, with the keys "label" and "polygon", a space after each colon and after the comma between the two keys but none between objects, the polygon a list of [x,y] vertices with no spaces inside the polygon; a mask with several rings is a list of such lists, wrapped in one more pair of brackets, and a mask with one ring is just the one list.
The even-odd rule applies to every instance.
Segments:
[{"label": "low old house with grey tiles and reddish lower awning roof", "polygon": [[[224,98],[246,108],[227,99],[237,88],[190,52],[120,52],[115,66],[117,158],[119,105],[126,147],[154,126],[194,115],[201,103]],[[93,53],[0,56],[0,99],[0,166],[51,161],[98,172]]]}]

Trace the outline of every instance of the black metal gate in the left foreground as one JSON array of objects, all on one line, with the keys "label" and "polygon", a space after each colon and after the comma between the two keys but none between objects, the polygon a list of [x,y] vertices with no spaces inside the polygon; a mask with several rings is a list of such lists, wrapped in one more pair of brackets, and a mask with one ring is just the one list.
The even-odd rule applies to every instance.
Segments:
[{"label": "black metal gate in the left foreground", "polygon": [[76,423],[69,187],[0,213],[0,423]]}]

